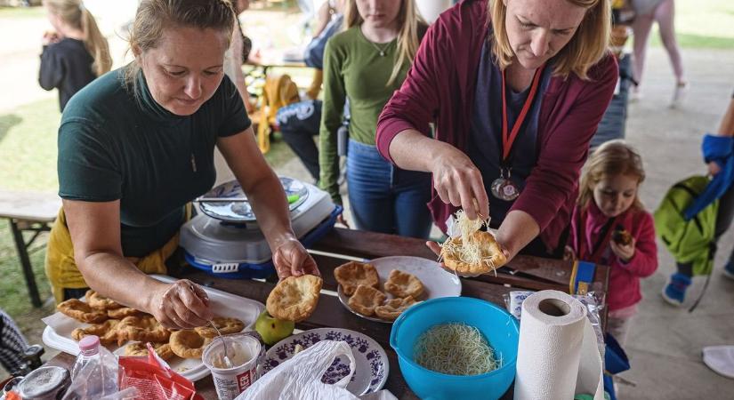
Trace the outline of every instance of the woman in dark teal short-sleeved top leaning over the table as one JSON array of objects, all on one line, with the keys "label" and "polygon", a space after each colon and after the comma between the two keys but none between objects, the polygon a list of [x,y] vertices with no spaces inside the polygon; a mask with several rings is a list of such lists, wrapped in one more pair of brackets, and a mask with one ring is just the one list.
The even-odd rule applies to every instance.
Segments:
[{"label": "woman in dark teal short-sleeved top leaning over the table", "polygon": [[130,37],[133,63],[69,101],[59,129],[63,210],[46,263],[57,300],[91,287],[170,328],[211,320],[198,285],[164,284],[143,272],[165,272],[185,205],[214,185],[214,146],[260,217],[278,276],[319,274],[224,77],[234,19],[229,1],[143,0]]}]

